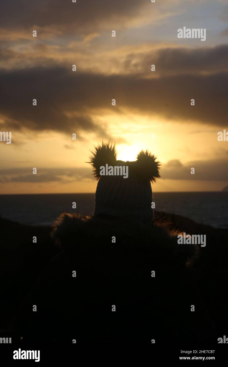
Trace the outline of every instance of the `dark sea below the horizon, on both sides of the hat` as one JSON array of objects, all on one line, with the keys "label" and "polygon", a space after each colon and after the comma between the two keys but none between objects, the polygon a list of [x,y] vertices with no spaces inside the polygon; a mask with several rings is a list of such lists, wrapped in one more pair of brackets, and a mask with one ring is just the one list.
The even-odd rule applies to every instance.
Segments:
[{"label": "dark sea below the horizon, on both sides of the hat", "polygon": [[[228,228],[228,192],[158,192],[154,202],[158,211]],[[64,211],[91,215],[93,209],[94,193],[0,195],[0,216],[21,224],[48,226]]]}]

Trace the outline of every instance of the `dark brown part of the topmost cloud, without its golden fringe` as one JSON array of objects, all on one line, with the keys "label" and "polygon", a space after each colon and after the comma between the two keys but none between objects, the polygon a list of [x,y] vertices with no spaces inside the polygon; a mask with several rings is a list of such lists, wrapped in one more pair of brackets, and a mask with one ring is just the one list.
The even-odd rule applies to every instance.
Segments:
[{"label": "dark brown part of the topmost cloud, without its golden fringe", "polygon": [[[56,27],[74,33],[94,31],[126,23],[137,17],[147,0],[10,0],[2,1],[1,27]],[[111,28],[110,28],[111,29]]]}]

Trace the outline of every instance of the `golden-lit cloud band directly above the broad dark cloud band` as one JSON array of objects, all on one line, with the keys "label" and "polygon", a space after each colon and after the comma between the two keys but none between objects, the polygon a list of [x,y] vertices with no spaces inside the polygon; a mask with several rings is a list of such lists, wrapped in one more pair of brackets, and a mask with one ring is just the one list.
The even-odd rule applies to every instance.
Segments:
[{"label": "golden-lit cloud band directly above the broad dark cloud band", "polygon": [[[64,45],[28,43],[24,47],[2,47],[0,67],[25,69],[34,67],[68,68],[73,61],[80,72],[104,75],[141,75],[155,78],[168,75],[208,75],[228,72],[228,45],[215,47],[177,47],[167,44],[142,44],[103,48],[91,45],[90,34],[84,40]],[[85,41],[87,39],[87,41]],[[105,47],[105,46],[104,46]],[[101,62],[101,60],[103,62]],[[151,65],[156,71],[151,72]]]}]

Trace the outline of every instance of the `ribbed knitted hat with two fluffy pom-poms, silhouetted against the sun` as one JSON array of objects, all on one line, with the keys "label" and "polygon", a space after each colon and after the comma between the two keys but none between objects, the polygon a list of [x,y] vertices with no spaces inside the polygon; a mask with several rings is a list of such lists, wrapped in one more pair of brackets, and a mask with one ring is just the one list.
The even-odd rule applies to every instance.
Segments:
[{"label": "ribbed knitted hat with two fluffy pom-poms, silhouetted against the sun", "polygon": [[116,160],[115,144],[102,142],[91,152],[93,175],[98,179],[94,215],[150,221],[154,218],[150,182],[160,177],[160,162],[146,151],[136,161]]}]

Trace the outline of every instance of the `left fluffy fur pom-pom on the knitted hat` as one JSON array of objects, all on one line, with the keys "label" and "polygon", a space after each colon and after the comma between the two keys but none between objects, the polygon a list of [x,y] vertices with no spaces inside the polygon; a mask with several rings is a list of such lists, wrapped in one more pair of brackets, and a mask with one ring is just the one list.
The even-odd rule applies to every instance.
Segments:
[{"label": "left fluffy fur pom-pom on the knitted hat", "polygon": [[93,166],[93,175],[96,178],[100,178],[100,167],[105,166],[106,163],[108,163],[111,166],[115,165],[117,152],[115,144],[112,145],[112,143],[104,143],[102,141],[102,145],[95,146],[95,152],[91,152],[92,155],[90,156],[89,162],[91,166]]}]

